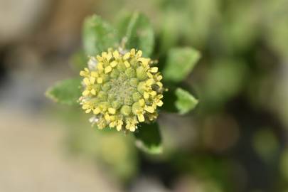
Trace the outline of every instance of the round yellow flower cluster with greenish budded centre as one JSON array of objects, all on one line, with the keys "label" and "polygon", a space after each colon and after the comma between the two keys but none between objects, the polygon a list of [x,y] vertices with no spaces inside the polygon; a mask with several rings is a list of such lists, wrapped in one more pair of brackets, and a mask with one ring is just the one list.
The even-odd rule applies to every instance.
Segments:
[{"label": "round yellow flower cluster with greenish budded centre", "polygon": [[80,105],[99,129],[116,127],[134,132],[139,122],[157,118],[164,91],[162,76],[154,61],[142,57],[142,50],[108,49],[90,57],[80,71],[84,90]]}]

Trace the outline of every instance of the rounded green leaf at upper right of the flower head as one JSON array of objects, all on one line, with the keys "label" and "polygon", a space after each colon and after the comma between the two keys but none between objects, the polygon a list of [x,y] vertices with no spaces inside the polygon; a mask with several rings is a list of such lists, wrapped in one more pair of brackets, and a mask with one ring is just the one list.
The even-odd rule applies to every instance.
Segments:
[{"label": "rounded green leaf at upper right of the flower head", "polygon": [[193,48],[172,48],[169,50],[166,65],[162,71],[164,80],[181,82],[191,73],[200,58]]}]

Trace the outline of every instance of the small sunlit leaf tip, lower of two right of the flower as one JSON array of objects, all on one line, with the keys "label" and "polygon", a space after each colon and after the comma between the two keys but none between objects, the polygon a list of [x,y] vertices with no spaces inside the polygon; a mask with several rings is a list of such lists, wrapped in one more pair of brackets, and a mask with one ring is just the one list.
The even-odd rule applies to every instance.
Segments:
[{"label": "small sunlit leaf tip, lower of two right of the flower", "polygon": [[175,95],[177,97],[175,106],[179,114],[186,114],[187,112],[193,110],[198,104],[198,100],[196,100],[193,95],[180,87],[176,89]]}]

